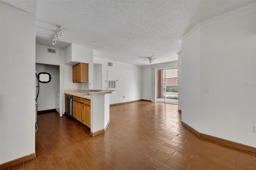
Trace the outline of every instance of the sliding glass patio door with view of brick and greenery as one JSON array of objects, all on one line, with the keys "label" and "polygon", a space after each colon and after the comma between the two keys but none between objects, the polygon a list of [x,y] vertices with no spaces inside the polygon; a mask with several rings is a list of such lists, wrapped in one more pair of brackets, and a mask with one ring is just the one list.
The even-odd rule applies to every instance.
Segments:
[{"label": "sliding glass patio door with view of brick and greenery", "polygon": [[178,68],[156,69],[156,102],[178,105]]}]

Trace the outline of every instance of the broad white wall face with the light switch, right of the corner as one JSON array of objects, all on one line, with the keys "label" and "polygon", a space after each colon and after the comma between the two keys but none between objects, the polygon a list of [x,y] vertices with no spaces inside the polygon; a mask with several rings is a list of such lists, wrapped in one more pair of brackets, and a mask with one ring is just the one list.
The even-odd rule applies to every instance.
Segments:
[{"label": "broad white wall face with the light switch, right of the corner", "polygon": [[201,30],[200,43],[200,132],[256,147],[256,13]]}]

